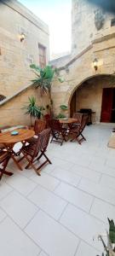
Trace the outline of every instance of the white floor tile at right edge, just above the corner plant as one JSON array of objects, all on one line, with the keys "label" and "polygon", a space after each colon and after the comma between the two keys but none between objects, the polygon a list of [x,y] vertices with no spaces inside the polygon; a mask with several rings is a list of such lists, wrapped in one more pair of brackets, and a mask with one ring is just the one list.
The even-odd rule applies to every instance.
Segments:
[{"label": "white floor tile at right edge, just above the corner plant", "polygon": [[90,214],[100,218],[105,223],[108,223],[107,218],[115,221],[115,207],[99,199],[95,199]]}]

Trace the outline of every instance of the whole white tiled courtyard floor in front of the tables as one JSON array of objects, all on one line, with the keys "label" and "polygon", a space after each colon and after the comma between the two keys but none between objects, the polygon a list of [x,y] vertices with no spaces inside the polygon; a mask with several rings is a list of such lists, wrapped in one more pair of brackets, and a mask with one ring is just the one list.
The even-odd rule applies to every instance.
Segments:
[{"label": "whole white tiled courtyard floor in front of the tables", "polygon": [[[90,125],[87,142],[49,144],[41,177],[32,170],[0,183],[1,256],[96,256],[98,234],[115,220],[113,125]],[[94,240],[93,240],[94,238]]]}]

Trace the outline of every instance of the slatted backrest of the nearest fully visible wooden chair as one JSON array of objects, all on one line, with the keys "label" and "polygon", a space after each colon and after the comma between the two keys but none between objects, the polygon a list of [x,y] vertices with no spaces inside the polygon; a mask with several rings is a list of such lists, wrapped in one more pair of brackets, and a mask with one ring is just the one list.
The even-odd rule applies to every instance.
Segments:
[{"label": "slatted backrest of the nearest fully visible wooden chair", "polygon": [[38,134],[37,143],[34,144],[34,154],[33,157],[36,157],[38,152],[45,150],[49,144],[50,129],[45,129]]}]

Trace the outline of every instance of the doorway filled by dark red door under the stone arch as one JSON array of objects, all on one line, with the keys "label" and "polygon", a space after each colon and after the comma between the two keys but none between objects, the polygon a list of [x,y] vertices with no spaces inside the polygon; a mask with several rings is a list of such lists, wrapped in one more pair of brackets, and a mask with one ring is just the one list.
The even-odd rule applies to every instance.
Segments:
[{"label": "doorway filled by dark red door under the stone arch", "polygon": [[101,122],[115,123],[115,88],[103,89]]}]

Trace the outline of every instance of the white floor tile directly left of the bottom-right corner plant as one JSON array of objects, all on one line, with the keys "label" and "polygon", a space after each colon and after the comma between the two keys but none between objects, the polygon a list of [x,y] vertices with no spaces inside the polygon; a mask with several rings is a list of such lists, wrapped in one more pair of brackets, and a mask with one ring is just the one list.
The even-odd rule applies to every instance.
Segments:
[{"label": "white floor tile directly left of the bottom-right corner plant", "polygon": [[72,205],[66,207],[66,211],[60,218],[60,223],[64,224],[76,236],[88,242],[91,246],[99,250],[102,249],[101,241],[98,241],[97,238],[93,241],[93,238],[101,233],[106,234],[106,224],[101,223],[101,221]]}]

